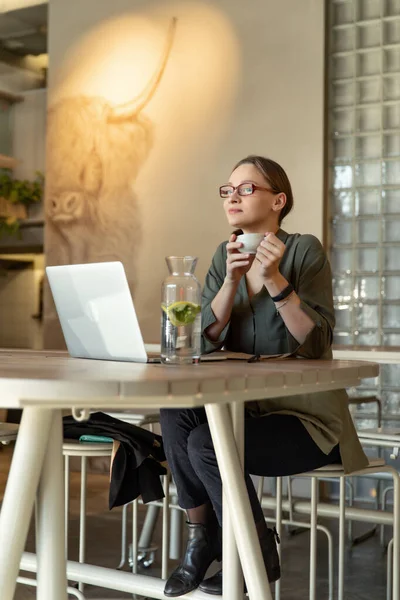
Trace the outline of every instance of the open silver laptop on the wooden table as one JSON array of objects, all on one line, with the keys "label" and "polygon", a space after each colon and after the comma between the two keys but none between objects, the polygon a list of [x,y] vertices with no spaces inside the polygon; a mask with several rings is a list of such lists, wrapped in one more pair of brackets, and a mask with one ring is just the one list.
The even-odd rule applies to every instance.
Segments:
[{"label": "open silver laptop on the wooden table", "polygon": [[71,356],[161,362],[160,352],[146,352],[121,262],[46,267],[46,274]]}]

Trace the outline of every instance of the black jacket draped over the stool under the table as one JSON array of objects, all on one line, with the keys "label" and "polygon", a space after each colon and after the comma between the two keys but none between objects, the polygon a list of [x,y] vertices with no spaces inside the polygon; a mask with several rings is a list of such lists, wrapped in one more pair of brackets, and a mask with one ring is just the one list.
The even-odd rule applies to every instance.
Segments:
[{"label": "black jacket draped over the stool under the table", "polygon": [[162,437],[142,427],[125,423],[102,412],[93,413],[88,421],[64,417],[64,438],[102,435],[120,442],[111,470],[109,508],[121,506],[142,496],[143,502],[164,497],[160,475],[167,470]]}]

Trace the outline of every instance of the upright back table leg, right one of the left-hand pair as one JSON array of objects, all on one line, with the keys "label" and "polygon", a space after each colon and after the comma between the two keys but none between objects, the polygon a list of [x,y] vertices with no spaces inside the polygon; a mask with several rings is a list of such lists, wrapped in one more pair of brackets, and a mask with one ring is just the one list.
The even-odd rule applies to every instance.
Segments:
[{"label": "upright back table leg, right one of the left-hand pair", "polygon": [[37,595],[40,600],[67,600],[61,410],[51,416],[37,497]]}]

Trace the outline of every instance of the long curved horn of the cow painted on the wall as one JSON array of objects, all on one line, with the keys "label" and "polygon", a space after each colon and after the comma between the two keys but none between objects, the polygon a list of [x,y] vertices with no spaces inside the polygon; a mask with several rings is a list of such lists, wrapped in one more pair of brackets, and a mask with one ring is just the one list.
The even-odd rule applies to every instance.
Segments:
[{"label": "long curved horn of the cow painted on the wall", "polygon": [[176,17],[174,17],[171,21],[164,55],[162,57],[158,70],[155,72],[152,79],[147,84],[146,88],[137,98],[131,100],[130,102],[120,104],[119,106],[115,106],[110,109],[110,113],[107,119],[110,123],[120,123],[131,119],[132,117],[137,115],[153,97],[158,87],[158,84],[160,83],[161,78],[164,74],[165,67],[167,66],[169,55],[171,53],[172,43],[175,36],[176,21]]}]

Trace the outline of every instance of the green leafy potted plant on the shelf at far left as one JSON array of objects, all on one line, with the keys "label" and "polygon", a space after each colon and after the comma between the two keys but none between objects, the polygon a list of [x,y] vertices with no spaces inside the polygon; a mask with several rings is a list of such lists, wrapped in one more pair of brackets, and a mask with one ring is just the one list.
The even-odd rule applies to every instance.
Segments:
[{"label": "green leafy potted plant on the shelf at far left", "polygon": [[15,235],[19,221],[27,218],[31,204],[43,198],[44,176],[37,172],[33,181],[16,179],[8,169],[0,170],[0,237]]}]

